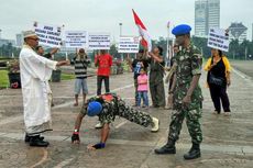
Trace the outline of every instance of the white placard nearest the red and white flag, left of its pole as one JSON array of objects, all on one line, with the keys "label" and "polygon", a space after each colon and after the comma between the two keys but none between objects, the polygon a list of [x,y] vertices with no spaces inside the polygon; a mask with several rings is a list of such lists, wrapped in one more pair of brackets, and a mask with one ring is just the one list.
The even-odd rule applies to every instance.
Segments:
[{"label": "white placard nearest the red and white flag, left of its pole", "polygon": [[119,53],[138,53],[139,45],[139,37],[121,36],[119,42]]}]

